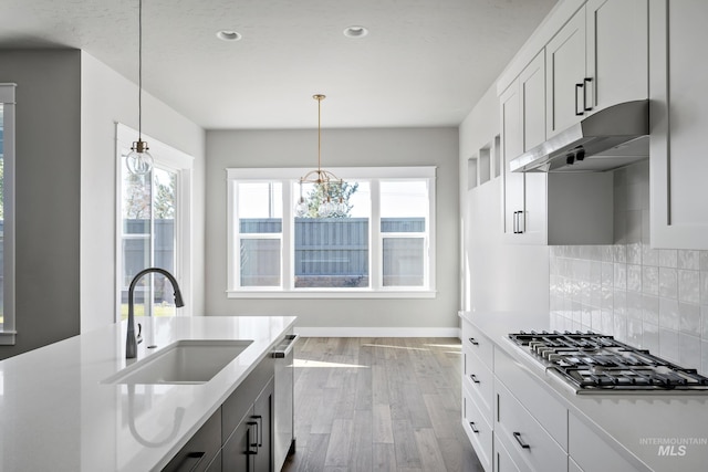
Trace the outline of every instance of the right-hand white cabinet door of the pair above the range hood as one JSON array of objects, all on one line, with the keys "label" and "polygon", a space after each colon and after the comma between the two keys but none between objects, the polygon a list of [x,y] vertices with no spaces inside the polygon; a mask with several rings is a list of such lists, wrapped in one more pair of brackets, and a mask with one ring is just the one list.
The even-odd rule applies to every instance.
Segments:
[{"label": "right-hand white cabinet door of the pair above the range hood", "polygon": [[648,97],[647,0],[589,0],[589,113]]}]

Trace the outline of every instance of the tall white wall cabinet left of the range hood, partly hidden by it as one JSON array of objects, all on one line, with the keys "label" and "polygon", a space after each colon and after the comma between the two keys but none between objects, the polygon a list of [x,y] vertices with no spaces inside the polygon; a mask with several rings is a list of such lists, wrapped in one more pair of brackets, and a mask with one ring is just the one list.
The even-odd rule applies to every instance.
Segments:
[{"label": "tall white wall cabinet left of the range hood, partly hidden by it", "polygon": [[612,174],[521,174],[509,162],[545,140],[545,54],[500,96],[503,238],[516,244],[612,244]]}]

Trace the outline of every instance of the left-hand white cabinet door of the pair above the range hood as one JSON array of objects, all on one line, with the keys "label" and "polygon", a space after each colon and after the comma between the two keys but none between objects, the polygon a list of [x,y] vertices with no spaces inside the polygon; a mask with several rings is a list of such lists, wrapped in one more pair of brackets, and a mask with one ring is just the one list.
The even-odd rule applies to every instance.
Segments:
[{"label": "left-hand white cabinet door of the pair above the range hood", "polygon": [[575,15],[545,46],[548,137],[577,123],[585,115],[585,9]]}]

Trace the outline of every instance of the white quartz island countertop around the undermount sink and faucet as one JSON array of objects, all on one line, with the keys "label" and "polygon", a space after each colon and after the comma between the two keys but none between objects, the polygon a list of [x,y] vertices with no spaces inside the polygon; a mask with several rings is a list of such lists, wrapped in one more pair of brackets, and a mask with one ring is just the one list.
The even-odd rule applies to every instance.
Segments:
[{"label": "white quartz island countertop around the undermount sink and faucet", "polygon": [[[294,322],[294,316],[136,317],[145,339],[137,359],[125,359],[123,322],[0,361],[0,470],[162,469]],[[253,343],[207,384],[102,384],[181,339]],[[148,349],[152,345],[157,347]]]}]

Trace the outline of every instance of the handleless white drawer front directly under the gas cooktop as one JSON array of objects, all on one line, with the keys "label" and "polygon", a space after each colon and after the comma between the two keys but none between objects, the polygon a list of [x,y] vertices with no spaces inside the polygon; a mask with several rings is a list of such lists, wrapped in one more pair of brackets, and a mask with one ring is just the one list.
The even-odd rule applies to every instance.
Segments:
[{"label": "handleless white drawer front directly under the gas cooktop", "polygon": [[494,355],[494,375],[527,410],[533,411],[533,417],[553,439],[568,450],[568,409],[501,349],[497,349]]}]

